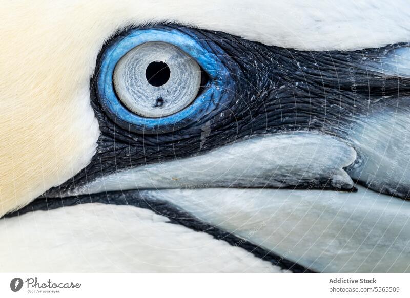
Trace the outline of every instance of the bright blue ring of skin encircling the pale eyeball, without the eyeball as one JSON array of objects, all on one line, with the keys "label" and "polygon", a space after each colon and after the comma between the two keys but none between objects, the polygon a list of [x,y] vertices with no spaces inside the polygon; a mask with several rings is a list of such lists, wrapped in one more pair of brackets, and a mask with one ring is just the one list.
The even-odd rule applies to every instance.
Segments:
[{"label": "bright blue ring of skin encircling the pale eyeball, without the eyeball", "polygon": [[[188,107],[161,118],[146,118],[129,111],[117,97],[113,74],[118,61],[130,50],[151,41],[162,41],[175,45],[196,60],[207,73],[209,81],[203,92]],[[234,90],[230,72],[218,56],[225,56],[218,46],[211,47],[196,36],[179,30],[132,29],[126,36],[110,44],[100,59],[97,74],[97,94],[104,110],[116,123],[138,133],[166,133],[176,131],[212,114],[220,102],[229,96],[224,90]]]}]

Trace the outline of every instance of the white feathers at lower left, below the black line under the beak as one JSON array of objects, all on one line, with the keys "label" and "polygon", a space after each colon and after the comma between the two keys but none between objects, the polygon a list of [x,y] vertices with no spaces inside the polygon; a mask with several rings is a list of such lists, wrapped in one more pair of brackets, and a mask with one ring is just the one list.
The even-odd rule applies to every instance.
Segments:
[{"label": "white feathers at lower left, below the black line under the beak", "polygon": [[280,272],[133,206],[80,204],[0,220],[1,272]]}]

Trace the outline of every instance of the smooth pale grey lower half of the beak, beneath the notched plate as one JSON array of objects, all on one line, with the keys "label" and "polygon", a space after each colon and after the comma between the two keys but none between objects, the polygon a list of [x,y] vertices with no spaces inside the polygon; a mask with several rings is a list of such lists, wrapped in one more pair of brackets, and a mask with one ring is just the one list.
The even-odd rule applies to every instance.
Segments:
[{"label": "smooth pale grey lower half of the beak, beneath the notched plate", "polygon": [[410,202],[362,186],[350,193],[208,188],[141,195],[313,271],[410,271]]}]

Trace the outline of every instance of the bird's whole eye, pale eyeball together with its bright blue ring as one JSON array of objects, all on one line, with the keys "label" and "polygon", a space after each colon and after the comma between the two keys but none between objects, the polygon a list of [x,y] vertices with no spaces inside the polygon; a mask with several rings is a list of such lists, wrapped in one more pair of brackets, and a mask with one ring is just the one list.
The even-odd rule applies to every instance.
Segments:
[{"label": "bird's whole eye, pale eyeball together with its bright blue ring", "polygon": [[[233,90],[223,50],[169,29],[133,29],[99,60],[97,97],[115,123],[134,132],[175,131],[211,116]],[[231,87],[230,87],[231,86]]]}]

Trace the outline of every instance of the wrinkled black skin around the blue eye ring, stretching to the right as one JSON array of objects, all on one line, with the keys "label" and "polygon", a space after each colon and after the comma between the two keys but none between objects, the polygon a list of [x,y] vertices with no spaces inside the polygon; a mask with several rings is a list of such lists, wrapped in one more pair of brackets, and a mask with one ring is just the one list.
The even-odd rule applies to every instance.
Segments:
[{"label": "wrinkled black skin around the blue eye ring, stretching to the right", "polygon": [[[380,49],[296,51],[223,32],[177,25],[156,27],[181,30],[196,35],[211,48],[222,48],[227,56],[219,58],[231,71],[236,89],[226,90],[229,100],[217,114],[178,131],[148,135],[131,132],[124,128],[128,123],[118,125],[107,117],[97,98],[95,79],[91,78],[91,104],[101,131],[97,154],[73,179],[48,191],[49,196],[115,171],[203,154],[250,135],[317,131],[348,141],[349,127],[356,116],[383,107],[407,109],[402,98],[410,93],[410,80],[381,79],[366,70],[363,57],[377,58],[383,53]],[[126,34],[124,31],[119,36]],[[202,83],[206,85],[206,81]],[[379,100],[382,95],[394,96]]]}]

